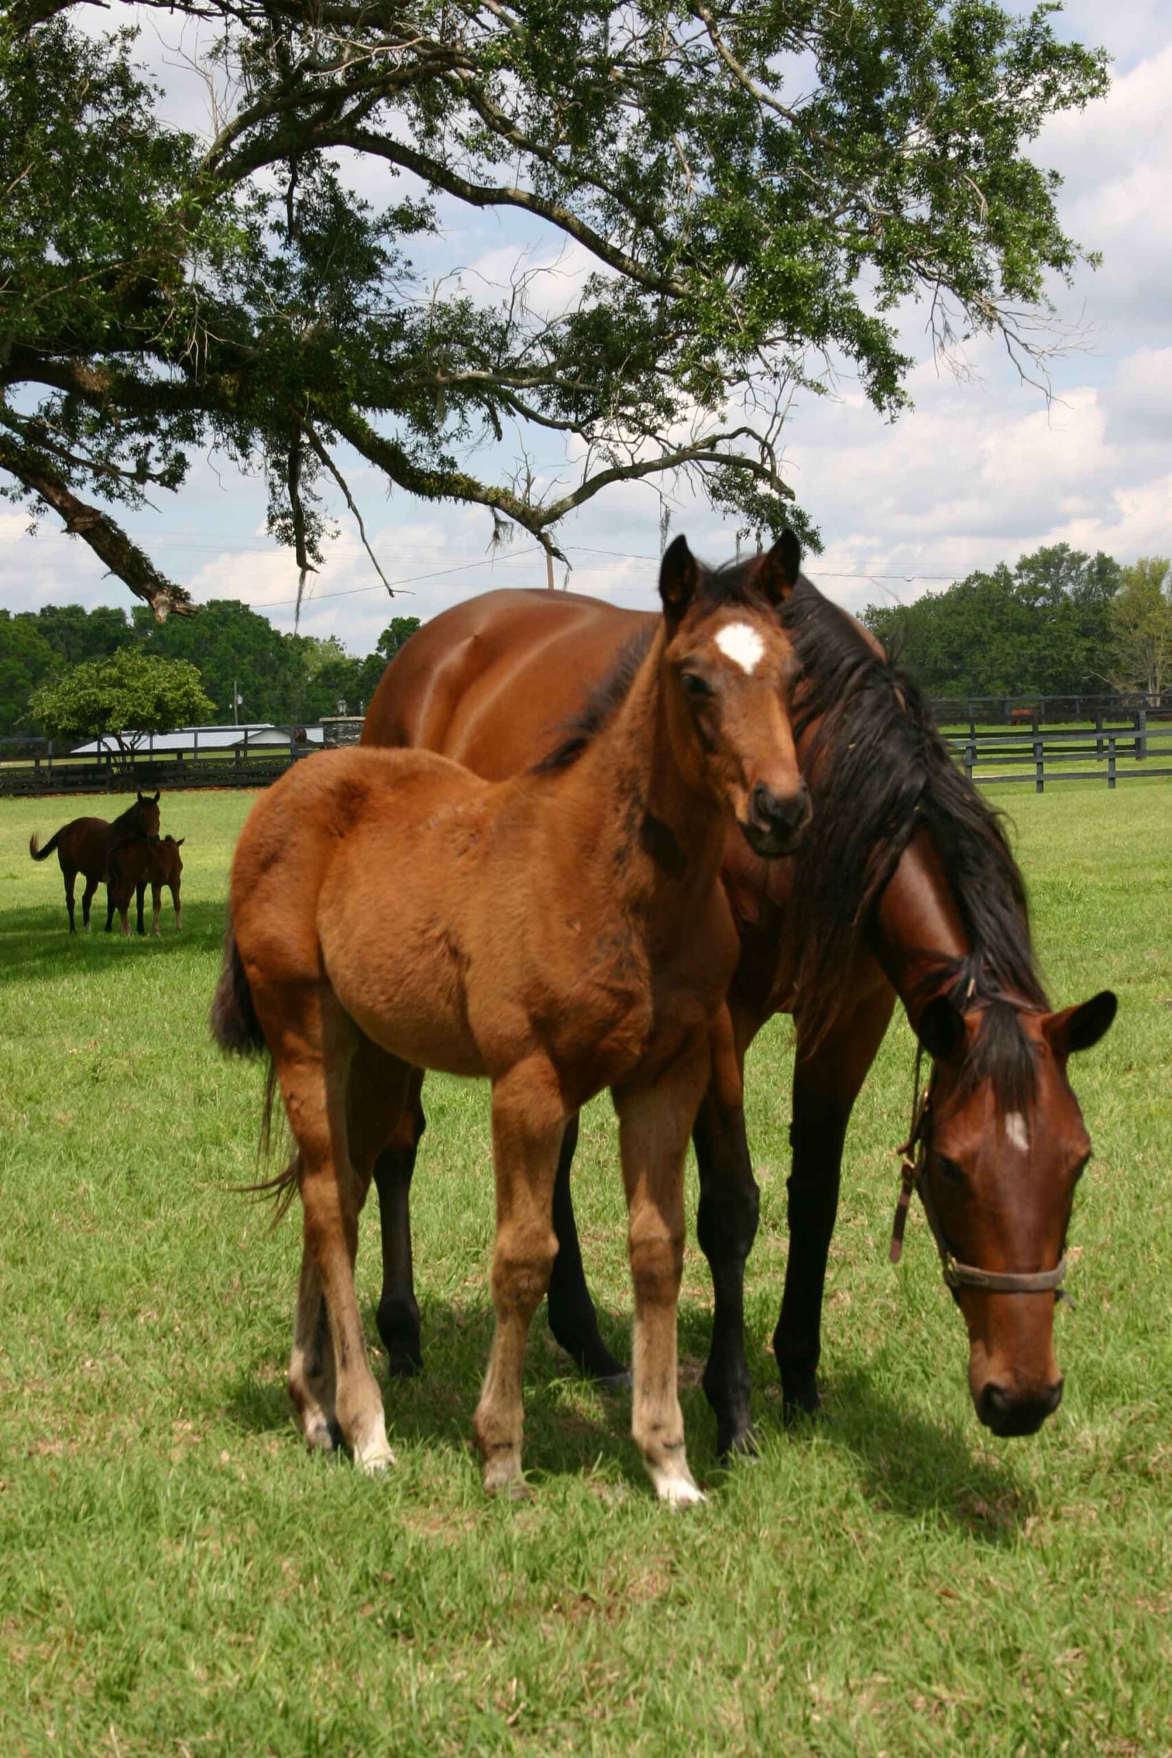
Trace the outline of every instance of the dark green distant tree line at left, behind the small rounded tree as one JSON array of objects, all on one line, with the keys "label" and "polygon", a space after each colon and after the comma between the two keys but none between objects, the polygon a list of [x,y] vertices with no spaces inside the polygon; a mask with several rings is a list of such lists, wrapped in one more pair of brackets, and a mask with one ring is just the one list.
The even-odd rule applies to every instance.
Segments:
[{"label": "dark green distant tree line at left, behind the small rounded tree", "polygon": [[[46,605],[11,615],[0,610],[0,735],[42,733],[30,698],[79,665],[123,649],[183,659],[199,672],[216,724],[232,721],[311,723],[323,714],[365,708],[390,656],[418,628],[394,617],[374,652],[348,652],[337,636],[283,635],[237,599],[204,605],[199,615],[156,622],[146,605],[123,610]],[[239,712],[232,708],[232,691]]]}]

